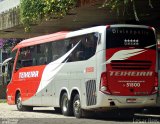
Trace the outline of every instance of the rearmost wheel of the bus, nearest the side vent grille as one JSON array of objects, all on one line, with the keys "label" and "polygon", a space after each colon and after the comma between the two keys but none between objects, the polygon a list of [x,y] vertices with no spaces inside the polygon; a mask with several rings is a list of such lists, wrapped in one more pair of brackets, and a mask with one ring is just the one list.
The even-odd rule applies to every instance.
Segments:
[{"label": "rearmost wheel of the bus, nearest the side vent grille", "polygon": [[76,118],[82,118],[83,110],[81,109],[79,94],[76,94],[73,99],[73,113]]}]

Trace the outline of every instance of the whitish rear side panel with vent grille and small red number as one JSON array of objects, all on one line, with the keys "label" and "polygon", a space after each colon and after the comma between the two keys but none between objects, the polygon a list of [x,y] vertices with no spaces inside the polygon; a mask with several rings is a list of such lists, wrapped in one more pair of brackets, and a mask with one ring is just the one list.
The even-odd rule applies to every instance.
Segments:
[{"label": "whitish rear side panel with vent grille and small red number", "polygon": [[96,54],[86,61],[84,66],[84,80],[81,84],[82,108],[90,108],[97,104],[97,67]]}]

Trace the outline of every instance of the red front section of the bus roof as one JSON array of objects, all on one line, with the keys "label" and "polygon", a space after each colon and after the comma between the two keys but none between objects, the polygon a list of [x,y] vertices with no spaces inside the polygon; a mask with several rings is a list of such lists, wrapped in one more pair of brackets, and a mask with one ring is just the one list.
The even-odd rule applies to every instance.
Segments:
[{"label": "red front section of the bus roof", "polygon": [[29,39],[23,40],[20,43],[18,43],[12,49],[12,51],[14,51],[16,49],[19,49],[19,48],[27,47],[27,46],[33,46],[33,45],[36,45],[36,44],[61,40],[61,39],[64,39],[68,33],[69,32],[67,32],[67,31],[63,31],[63,32],[57,32],[57,33],[49,34],[49,35],[43,35],[43,36],[38,36],[38,37],[34,37],[34,38],[29,38]]}]

